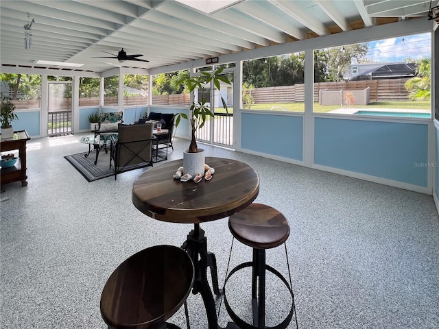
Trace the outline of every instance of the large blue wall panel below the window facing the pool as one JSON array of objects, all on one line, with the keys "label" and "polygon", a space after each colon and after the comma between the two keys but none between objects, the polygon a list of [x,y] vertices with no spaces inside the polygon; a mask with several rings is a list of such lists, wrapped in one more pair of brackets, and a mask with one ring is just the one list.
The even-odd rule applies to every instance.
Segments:
[{"label": "large blue wall panel below the window facing the pool", "polygon": [[316,118],[314,163],[427,187],[427,123]]}]

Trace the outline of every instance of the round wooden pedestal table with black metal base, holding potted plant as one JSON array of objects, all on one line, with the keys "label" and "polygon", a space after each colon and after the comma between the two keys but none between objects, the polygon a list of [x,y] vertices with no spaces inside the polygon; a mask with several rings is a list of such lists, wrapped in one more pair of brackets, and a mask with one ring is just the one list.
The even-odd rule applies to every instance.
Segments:
[{"label": "round wooden pedestal table with black metal base, holding potted plant", "polygon": [[213,292],[220,295],[215,254],[207,251],[207,239],[200,223],[222,219],[252,204],[259,193],[259,176],[244,162],[206,157],[215,169],[211,180],[180,182],[172,175],[183,165],[174,160],[149,169],[132,186],[132,203],[145,215],[160,221],[193,223],[182,248],[195,267],[194,294],[200,293],[206,308],[209,329],[217,329],[215,300],[207,279],[211,269]]}]

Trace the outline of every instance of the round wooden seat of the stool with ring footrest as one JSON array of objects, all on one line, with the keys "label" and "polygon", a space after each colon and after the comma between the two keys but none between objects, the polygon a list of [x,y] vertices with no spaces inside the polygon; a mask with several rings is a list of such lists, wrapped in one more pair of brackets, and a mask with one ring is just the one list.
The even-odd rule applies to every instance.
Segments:
[{"label": "round wooden seat of the stool with ring footrest", "polygon": [[228,227],[239,242],[256,249],[278,247],[289,236],[287,219],[265,204],[250,204],[230,216]]}]

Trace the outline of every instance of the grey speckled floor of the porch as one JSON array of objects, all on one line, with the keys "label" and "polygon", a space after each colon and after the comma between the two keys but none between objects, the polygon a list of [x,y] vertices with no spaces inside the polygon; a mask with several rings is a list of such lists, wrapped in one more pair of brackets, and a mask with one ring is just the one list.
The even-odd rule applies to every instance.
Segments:
[{"label": "grey speckled floor of the porch", "polygon": [[[80,136],[32,139],[29,185],[2,186],[1,328],[106,328],[99,298],[110,273],[145,247],[180,245],[192,228],[134,208],[131,186],[145,169],[88,183],[63,158],[85,151]],[[188,143],[176,140],[169,158],[180,158]],[[431,196],[203,148],[254,167],[261,178],[256,202],[289,220],[299,328],[439,328],[439,218]],[[227,221],[202,228],[223,282],[232,240]],[[250,248],[235,243],[231,266],[250,256]],[[267,258],[287,274],[283,248],[270,249]],[[230,284],[235,307],[248,313],[248,283]],[[288,301],[279,284],[270,288],[273,325]],[[199,295],[189,296],[189,313],[191,328],[206,328]],[[185,328],[182,311],[172,321]],[[226,321],[222,305],[219,323]]]}]

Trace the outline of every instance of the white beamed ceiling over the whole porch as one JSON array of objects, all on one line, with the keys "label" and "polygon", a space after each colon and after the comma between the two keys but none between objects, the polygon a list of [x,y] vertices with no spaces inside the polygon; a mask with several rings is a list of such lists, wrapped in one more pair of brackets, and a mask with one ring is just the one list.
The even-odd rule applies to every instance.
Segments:
[{"label": "white beamed ceiling over the whole porch", "polygon": [[[76,71],[104,72],[121,64],[93,56],[108,56],[103,51],[117,55],[123,47],[128,55],[140,53],[150,61],[128,61],[123,66],[155,69],[405,19],[427,19],[428,10],[429,1],[412,0],[244,0],[213,14],[173,0],[1,0],[0,62],[51,69],[65,68],[36,62],[74,62],[85,64]],[[32,18],[32,47],[25,49],[23,26]]]}]

